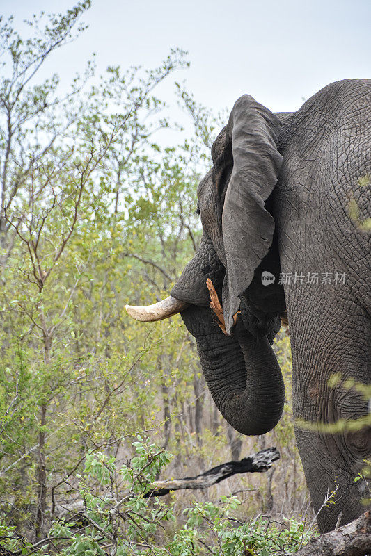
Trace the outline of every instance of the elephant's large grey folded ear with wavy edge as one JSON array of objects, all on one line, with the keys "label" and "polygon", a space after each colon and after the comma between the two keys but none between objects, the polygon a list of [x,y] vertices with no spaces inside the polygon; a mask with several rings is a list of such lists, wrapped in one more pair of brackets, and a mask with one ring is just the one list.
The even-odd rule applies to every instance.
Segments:
[{"label": "elephant's large grey folded ear with wavy edge", "polygon": [[[224,196],[222,233],[227,275],[223,285],[223,312],[228,332],[239,309],[239,295],[251,284],[254,271],[273,240],[274,219],[266,210],[265,201],[274,190],[283,162],[276,147],[280,127],[271,111],[253,97],[244,95],[230,114],[224,146],[226,155],[219,156],[219,160],[228,164],[228,152],[232,154],[228,187],[226,183],[216,182],[219,195]],[[221,167],[216,174],[223,176]]]}]

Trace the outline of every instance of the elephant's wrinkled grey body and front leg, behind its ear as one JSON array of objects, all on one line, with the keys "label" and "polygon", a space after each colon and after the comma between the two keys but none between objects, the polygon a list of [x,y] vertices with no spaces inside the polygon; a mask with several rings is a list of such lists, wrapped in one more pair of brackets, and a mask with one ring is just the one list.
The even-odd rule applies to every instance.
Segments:
[{"label": "elephant's wrinkled grey body and front leg, behind its ear", "polygon": [[[368,412],[367,401],[342,382],[370,384],[370,232],[362,229],[370,215],[370,145],[371,81],[358,80],[321,90],[285,117],[278,138],[283,166],[273,205],[281,269],[304,277],[303,284],[284,285],[293,410],[295,418],[312,423]],[[352,202],[359,208],[353,218]],[[328,272],[332,281],[345,273],[345,284],[306,284],[308,272]],[[341,380],[330,387],[333,373]],[[370,427],[337,434],[297,427],[296,436],[315,512],[338,485],[335,505],[319,512],[320,529],[334,528],[340,512],[341,523],[364,512],[368,486],[354,477],[370,458]]]}]

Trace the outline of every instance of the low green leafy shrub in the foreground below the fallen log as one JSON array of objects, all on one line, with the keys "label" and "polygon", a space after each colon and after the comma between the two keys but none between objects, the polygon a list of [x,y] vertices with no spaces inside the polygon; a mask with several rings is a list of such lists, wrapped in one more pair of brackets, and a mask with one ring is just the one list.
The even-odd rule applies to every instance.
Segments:
[{"label": "low green leafy shrub in the foreground below the fallen log", "polygon": [[[84,473],[77,475],[84,511],[80,510],[70,522],[63,519],[53,523],[49,530],[49,538],[58,546],[58,553],[104,555],[102,547],[111,547],[111,554],[123,556],[150,553],[274,556],[292,554],[308,541],[303,522],[294,519],[286,520],[281,526],[261,516],[239,523],[235,518],[241,504],[237,496],[221,496],[218,504],[195,500],[191,507],[184,509],[183,523],[171,535],[171,523],[175,522],[173,504],[168,505],[159,498],[150,501],[143,498],[171,455],[142,436],[137,437],[133,446],[136,455],[121,468],[116,467],[114,457],[102,452],[86,455]],[[121,477],[125,485],[120,482]],[[90,493],[93,484],[96,495]],[[108,490],[102,491],[102,487]],[[88,524],[81,526],[79,520]],[[167,534],[162,539],[156,537],[158,530]],[[0,532],[3,539],[8,537],[4,546],[17,549],[19,543],[12,538],[14,528],[2,526]],[[169,536],[173,537],[170,541]],[[35,550],[35,554],[45,554],[45,550]]]}]

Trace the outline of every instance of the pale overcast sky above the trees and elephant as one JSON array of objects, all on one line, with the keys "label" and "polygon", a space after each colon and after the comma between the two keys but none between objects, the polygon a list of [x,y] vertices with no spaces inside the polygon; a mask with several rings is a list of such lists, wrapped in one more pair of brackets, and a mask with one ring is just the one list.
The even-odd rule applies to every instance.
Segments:
[{"label": "pale overcast sky above the trees and elephant", "polygon": [[[0,11],[20,24],[73,5],[0,0]],[[154,67],[174,47],[191,61],[176,79],[215,111],[245,92],[272,111],[293,111],[327,83],[371,76],[370,0],[93,0],[83,21],[88,30],[49,66],[65,83],[93,51],[102,72]]]}]

